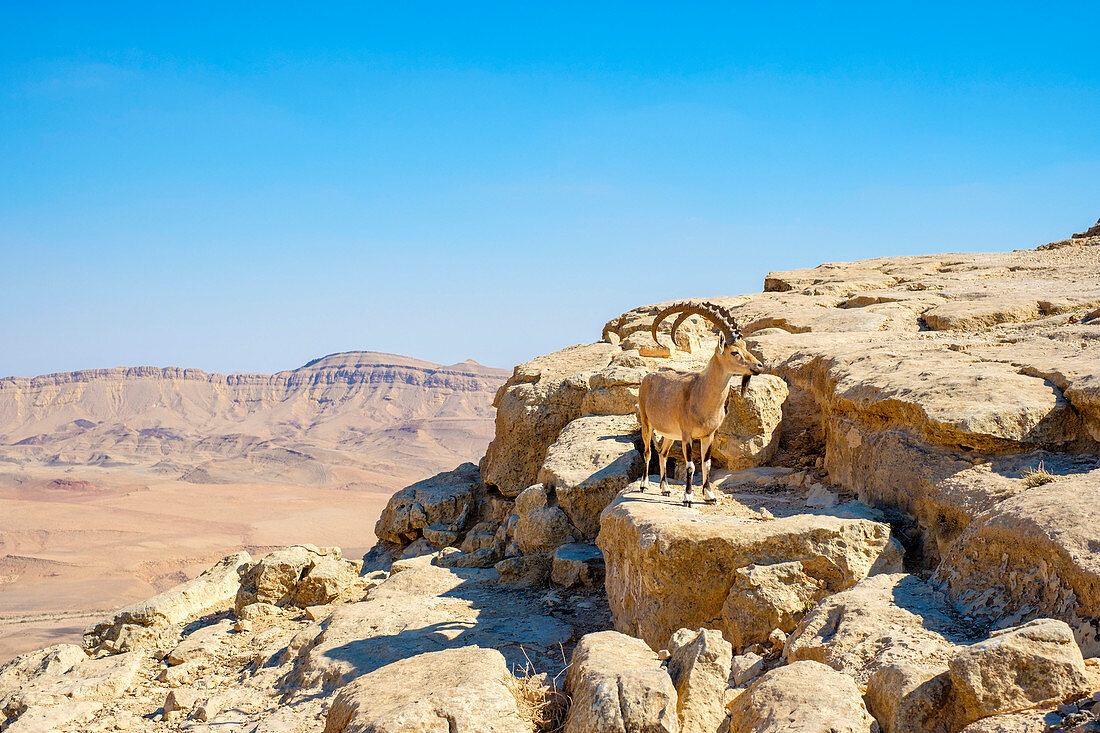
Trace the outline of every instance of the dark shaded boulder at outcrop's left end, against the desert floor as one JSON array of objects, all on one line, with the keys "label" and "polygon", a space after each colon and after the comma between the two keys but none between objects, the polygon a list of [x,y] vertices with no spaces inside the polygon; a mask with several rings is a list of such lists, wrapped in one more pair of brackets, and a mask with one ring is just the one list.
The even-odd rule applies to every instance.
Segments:
[{"label": "dark shaded boulder at outcrop's left end, against the desert floor", "polygon": [[439,532],[461,530],[481,485],[481,473],[473,463],[418,481],[389,497],[374,534],[378,539],[405,545],[428,527],[436,528],[437,540]]}]

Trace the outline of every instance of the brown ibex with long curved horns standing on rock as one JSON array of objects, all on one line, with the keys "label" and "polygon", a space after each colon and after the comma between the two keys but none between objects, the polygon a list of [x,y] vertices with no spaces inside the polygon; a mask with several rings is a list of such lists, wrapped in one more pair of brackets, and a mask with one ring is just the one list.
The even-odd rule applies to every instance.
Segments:
[{"label": "brown ibex with long curved horns standing on rock", "polygon": [[684,505],[691,506],[692,475],[695,473],[695,463],[691,460],[691,442],[698,439],[700,460],[703,464],[703,500],[713,504],[717,499],[711,489],[711,444],[714,442],[714,434],[726,419],[729,382],[733,378],[740,376],[744,395],[749,379],[754,374],[760,374],[763,364],[749,353],[733,314],[714,303],[676,303],[660,311],[651,326],[654,341],[657,341],[657,327],[674,313],[679,313],[680,316],[672,324],[673,342],[676,328],[689,316],[700,315],[718,327],[718,346],[703,371],[682,372],[661,369],[642,378],[638,392],[642,453],[646,458],[646,474],[641,480],[641,489],[645,491],[649,488],[649,457],[656,433],[661,439],[658,447],[661,494],[668,496],[672,493],[669,491],[664,470],[672,442],[680,440],[684,463],[688,467]]}]

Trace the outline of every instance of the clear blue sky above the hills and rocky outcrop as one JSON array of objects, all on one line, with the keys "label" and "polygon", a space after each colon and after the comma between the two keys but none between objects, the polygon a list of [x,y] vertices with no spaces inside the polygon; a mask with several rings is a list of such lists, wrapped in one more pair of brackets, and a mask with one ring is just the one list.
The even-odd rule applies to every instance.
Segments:
[{"label": "clear blue sky above the hills and rocky outcrop", "polygon": [[510,366],[1100,216],[1093,3],[0,2],[0,376]]}]

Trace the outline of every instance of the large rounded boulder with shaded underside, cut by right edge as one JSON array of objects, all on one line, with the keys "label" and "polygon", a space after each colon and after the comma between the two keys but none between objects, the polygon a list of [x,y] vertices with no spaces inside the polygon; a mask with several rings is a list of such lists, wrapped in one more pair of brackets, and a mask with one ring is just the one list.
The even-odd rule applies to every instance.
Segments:
[{"label": "large rounded boulder with shaded underside, cut by right edge", "polygon": [[997,625],[1060,619],[1085,656],[1100,655],[1100,470],[1022,491],[976,519],[936,580]]}]

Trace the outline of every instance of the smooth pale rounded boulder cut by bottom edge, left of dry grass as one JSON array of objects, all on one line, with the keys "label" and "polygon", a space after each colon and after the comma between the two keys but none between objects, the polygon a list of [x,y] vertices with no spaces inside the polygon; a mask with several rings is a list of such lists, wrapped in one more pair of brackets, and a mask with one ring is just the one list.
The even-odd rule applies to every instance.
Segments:
[{"label": "smooth pale rounded boulder cut by bottom edge, left of dry grass", "polygon": [[499,652],[477,647],[427,652],[370,671],[342,688],[324,733],[531,733]]}]

